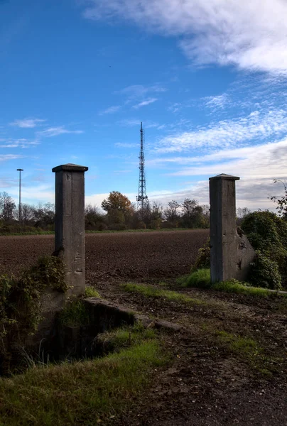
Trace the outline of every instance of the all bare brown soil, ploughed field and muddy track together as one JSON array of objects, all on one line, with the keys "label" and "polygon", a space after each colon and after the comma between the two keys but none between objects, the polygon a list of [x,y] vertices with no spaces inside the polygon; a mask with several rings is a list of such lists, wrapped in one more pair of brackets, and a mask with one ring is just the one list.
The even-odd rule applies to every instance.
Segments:
[{"label": "all bare brown soil, ploughed field and muddy track together", "polygon": [[[181,288],[175,277],[188,273],[207,235],[87,236],[87,281],[102,297],[184,326],[161,334],[170,364],[153,372],[148,392],[112,418],[112,425],[287,425],[287,300]],[[53,236],[1,237],[0,273],[20,271],[51,251]],[[127,281],[175,290],[205,304],[126,293],[121,283]],[[221,332],[235,343],[252,339],[255,346],[232,346]]]}]

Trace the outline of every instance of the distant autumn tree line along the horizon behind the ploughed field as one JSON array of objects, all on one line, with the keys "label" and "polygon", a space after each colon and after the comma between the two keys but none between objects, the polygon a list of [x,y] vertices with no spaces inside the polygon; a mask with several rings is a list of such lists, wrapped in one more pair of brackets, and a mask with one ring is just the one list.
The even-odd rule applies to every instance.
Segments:
[{"label": "distant autumn tree line along the horizon behind the ploughed field", "polygon": [[[171,200],[166,206],[159,202],[148,202],[144,210],[137,210],[128,197],[118,191],[99,207],[85,206],[85,228],[87,230],[124,230],[160,228],[208,228],[209,206],[200,205],[196,200],[185,198],[182,203]],[[16,232],[18,226],[28,226],[38,230],[53,231],[55,204],[50,202],[31,205],[21,204],[21,215],[13,199],[7,192],[0,192],[0,231]]]}]

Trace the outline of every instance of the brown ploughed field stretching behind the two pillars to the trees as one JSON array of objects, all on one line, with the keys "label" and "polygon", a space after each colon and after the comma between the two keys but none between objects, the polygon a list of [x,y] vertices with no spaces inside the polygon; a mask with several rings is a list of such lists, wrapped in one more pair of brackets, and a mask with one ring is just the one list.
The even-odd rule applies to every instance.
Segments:
[{"label": "brown ploughed field stretching behind the two pillars to the trees", "polygon": [[[87,234],[87,280],[161,278],[188,273],[208,230]],[[0,274],[17,275],[52,253],[54,236],[0,236]]]}]

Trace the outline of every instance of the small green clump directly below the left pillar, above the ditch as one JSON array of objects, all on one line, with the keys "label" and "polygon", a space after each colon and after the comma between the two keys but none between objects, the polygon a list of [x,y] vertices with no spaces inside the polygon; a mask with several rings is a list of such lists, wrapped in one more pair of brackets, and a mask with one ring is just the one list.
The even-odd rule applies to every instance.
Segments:
[{"label": "small green clump directly below the left pillar, above the ditch", "polygon": [[72,300],[59,315],[60,324],[67,327],[78,327],[89,324],[89,315],[82,300]]}]

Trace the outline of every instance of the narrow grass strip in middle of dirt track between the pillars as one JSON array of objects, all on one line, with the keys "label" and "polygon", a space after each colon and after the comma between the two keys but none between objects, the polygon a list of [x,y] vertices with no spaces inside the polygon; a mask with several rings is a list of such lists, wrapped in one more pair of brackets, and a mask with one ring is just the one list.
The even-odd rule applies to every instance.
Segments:
[{"label": "narrow grass strip in middle of dirt track between the pillars", "polygon": [[161,290],[153,287],[153,285],[126,283],[121,284],[121,287],[129,293],[140,293],[146,297],[163,297],[167,300],[183,302],[186,305],[205,305],[205,302],[200,299],[194,299],[193,297],[183,295],[176,291]]}]

